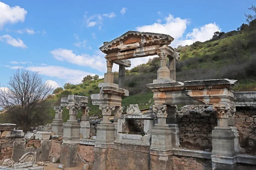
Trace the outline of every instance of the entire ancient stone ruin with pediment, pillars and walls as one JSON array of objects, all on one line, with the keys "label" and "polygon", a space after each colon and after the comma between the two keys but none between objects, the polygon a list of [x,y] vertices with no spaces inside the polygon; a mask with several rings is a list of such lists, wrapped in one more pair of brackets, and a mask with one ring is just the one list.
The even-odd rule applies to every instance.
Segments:
[{"label": "entire ancient stone ruin with pediment, pillars and walls", "polygon": [[[256,92],[234,92],[236,80],[230,79],[176,82],[179,54],[169,46],[173,40],[166,34],[128,31],[104,42],[100,50],[106,54],[107,73],[99,94],[91,95],[102,121],[90,119],[87,96],[69,95],[54,107],[49,132],[24,136],[13,130],[15,125],[0,125],[2,167],[52,161],[94,170],[256,169]],[[122,97],[129,95],[124,88],[128,59],[152,55],[160,57],[161,65],[156,79],[145,85],[154,94],[153,108],[142,113],[130,105],[122,114]],[[118,84],[113,83],[113,63],[119,65]],[[177,110],[177,105],[184,106]],[[63,107],[70,114],[66,123]]]}]

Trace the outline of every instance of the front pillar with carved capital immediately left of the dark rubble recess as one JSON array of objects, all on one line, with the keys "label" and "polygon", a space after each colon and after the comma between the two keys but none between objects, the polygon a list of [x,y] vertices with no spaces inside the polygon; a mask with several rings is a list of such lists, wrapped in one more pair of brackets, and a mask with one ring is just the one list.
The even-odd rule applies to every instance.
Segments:
[{"label": "front pillar with carved capital immediately left of the dark rubble recess", "polygon": [[167,106],[154,105],[157,113],[157,124],[151,130],[150,169],[172,169],[172,132],[166,124]]}]

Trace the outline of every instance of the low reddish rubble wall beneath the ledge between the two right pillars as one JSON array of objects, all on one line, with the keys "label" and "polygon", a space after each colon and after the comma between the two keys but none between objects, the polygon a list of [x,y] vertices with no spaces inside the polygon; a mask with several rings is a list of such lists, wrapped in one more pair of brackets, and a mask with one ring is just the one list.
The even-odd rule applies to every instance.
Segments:
[{"label": "low reddish rubble wall beneath the ledge between the two right pillars", "polygon": [[173,170],[212,170],[211,159],[173,156],[172,165]]}]

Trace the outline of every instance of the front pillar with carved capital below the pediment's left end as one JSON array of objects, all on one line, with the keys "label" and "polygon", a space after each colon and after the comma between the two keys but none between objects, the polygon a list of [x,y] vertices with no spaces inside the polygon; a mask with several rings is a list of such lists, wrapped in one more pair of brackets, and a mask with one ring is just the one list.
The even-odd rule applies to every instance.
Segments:
[{"label": "front pillar with carved capital below the pediment's left end", "polygon": [[102,122],[97,125],[97,137],[95,140],[94,170],[108,169],[110,159],[111,143],[115,140],[115,125],[109,119],[115,106],[99,105],[102,110]]}]

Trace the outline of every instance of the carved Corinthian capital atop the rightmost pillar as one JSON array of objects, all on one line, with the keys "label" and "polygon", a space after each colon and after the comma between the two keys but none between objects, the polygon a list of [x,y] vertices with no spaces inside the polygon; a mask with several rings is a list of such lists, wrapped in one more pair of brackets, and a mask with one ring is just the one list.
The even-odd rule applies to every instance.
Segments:
[{"label": "carved Corinthian capital atop the rightmost pillar", "polygon": [[212,105],[218,119],[235,119],[236,108],[230,104]]}]

